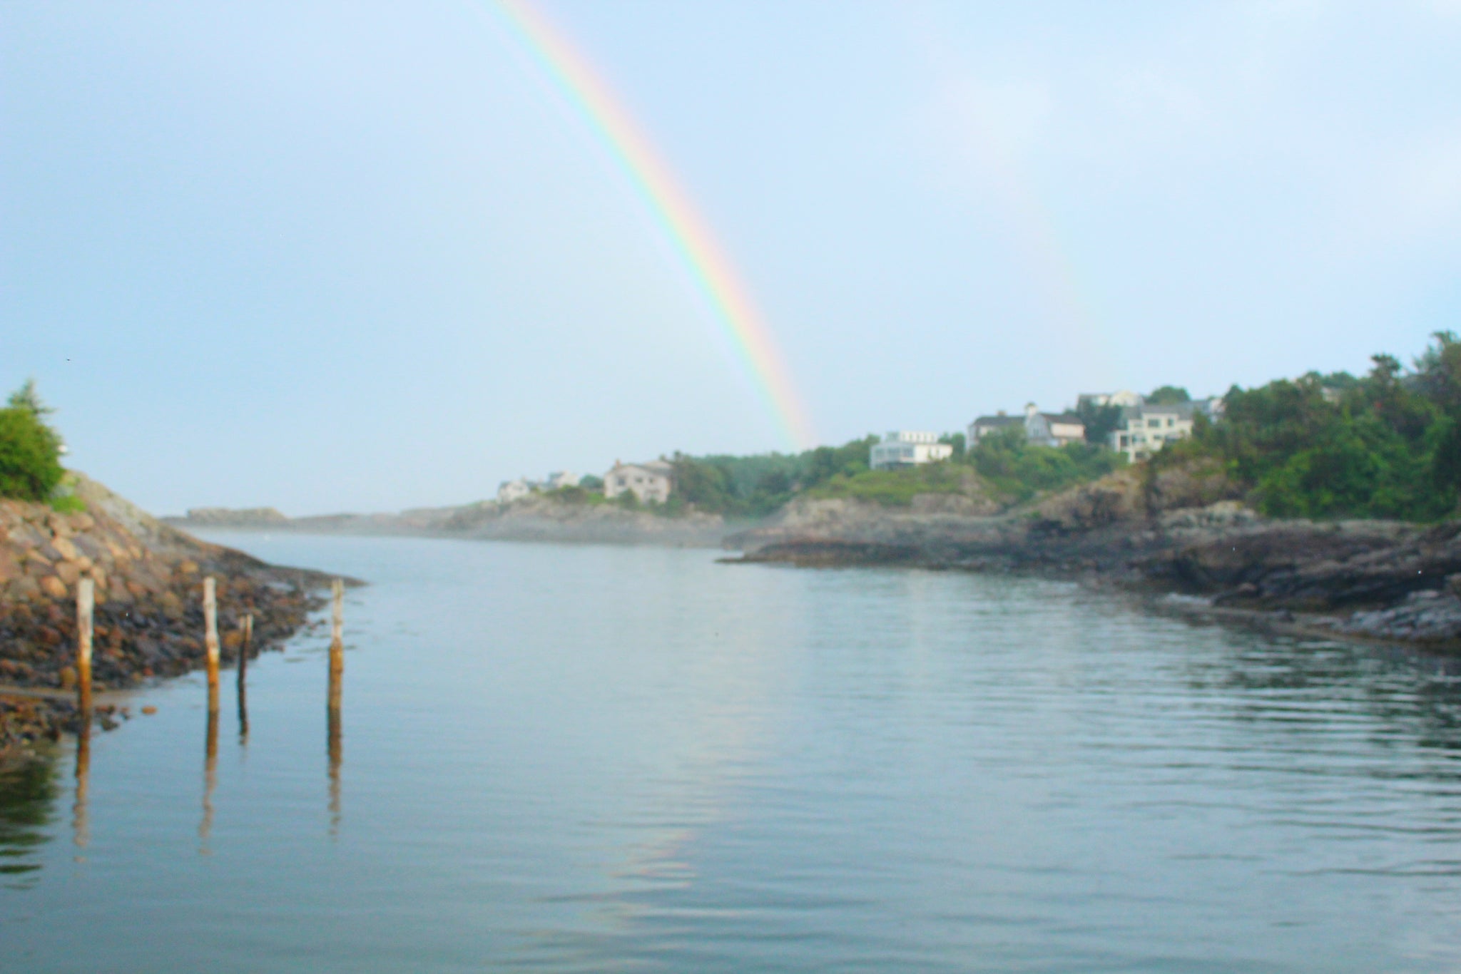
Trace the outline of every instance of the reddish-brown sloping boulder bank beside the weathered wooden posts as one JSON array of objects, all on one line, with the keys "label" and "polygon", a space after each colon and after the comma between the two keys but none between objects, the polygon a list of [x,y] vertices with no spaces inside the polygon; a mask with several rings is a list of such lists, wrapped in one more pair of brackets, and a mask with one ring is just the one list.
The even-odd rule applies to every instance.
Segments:
[{"label": "reddish-brown sloping boulder bank beside the weathered wooden posts", "polygon": [[[210,545],[152,518],[107,488],[79,479],[85,513],[0,501],[0,755],[75,729],[67,699],[22,695],[76,683],[76,583],[96,593],[96,691],[180,676],[203,662],[203,578],[218,586],[225,662],[237,662],[240,619],[254,615],[251,656],[279,648],[323,605],[329,575],[279,568]],[[6,692],[10,688],[12,692]],[[102,726],[114,711],[98,707]]]}]

